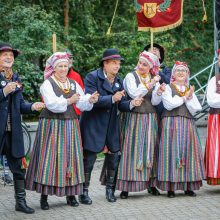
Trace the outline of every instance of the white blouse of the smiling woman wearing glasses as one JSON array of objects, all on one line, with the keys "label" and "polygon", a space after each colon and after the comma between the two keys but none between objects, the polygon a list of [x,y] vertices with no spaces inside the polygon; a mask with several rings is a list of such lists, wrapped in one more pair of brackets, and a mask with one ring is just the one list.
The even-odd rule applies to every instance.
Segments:
[{"label": "white blouse of the smiling woman wearing glasses", "polygon": [[[180,86],[176,85],[178,89],[180,89]],[[181,88],[181,92],[185,91],[185,88]],[[181,105],[184,104],[184,99],[183,97],[180,97],[178,95],[175,95],[172,97],[172,89],[170,88],[169,85],[166,85],[166,90],[162,93],[162,101],[164,107],[168,110],[171,111],[174,108],[177,108]],[[202,110],[202,106],[199,103],[199,100],[197,99],[195,93],[193,93],[193,97],[190,100],[186,100],[185,102],[186,107],[188,108],[189,112],[193,115],[197,111]]]}]

